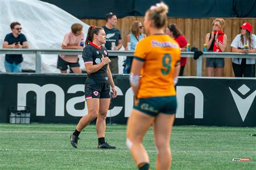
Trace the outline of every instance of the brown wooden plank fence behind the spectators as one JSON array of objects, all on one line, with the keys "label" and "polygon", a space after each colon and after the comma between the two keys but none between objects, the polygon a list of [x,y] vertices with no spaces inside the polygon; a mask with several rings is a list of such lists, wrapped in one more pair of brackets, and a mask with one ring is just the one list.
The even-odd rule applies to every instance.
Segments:
[{"label": "brown wooden plank fence behind the spectators", "polygon": [[[129,16],[126,18],[118,19],[117,28],[121,31],[123,42],[125,37],[129,34],[129,27],[135,20],[139,20],[143,23],[143,17]],[[253,33],[255,33],[256,22],[255,19],[246,18],[224,18],[225,28],[224,33],[228,37],[226,52],[231,52],[230,44],[234,37],[240,33],[240,26],[249,22],[253,25]],[[102,26],[105,25],[104,19],[81,19],[88,25]],[[207,19],[191,19],[191,18],[168,18],[168,24],[175,23],[183,32],[184,36],[188,40],[188,43],[192,46],[196,46],[203,50],[205,43],[205,35],[212,30],[212,22],[214,18]],[[203,60],[203,76],[206,76],[205,61]],[[185,66],[184,75],[196,75],[196,62],[192,58],[188,58],[187,65]],[[234,76],[232,69],[232,59],[225,58],[224,76]]]}]

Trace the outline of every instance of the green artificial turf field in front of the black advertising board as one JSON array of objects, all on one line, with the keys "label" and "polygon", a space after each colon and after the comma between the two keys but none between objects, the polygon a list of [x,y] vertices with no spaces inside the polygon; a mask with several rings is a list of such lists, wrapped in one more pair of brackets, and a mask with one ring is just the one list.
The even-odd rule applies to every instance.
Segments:
[{"label": "green artificial turf field in front of the black advertising board", "polygon": [[[69,134],[76,125],[0,124],[0,169],[137,169],[126,147],[126,126],[108,125],[106,141],[115,150],[98,150],[95,125],[80,134],[73,148]],[[255,128],[174,126],[172,169],[256,169]],[[152,129],[144,146],[155,169]],[[232,162],[233,158],[250,158]]]}]

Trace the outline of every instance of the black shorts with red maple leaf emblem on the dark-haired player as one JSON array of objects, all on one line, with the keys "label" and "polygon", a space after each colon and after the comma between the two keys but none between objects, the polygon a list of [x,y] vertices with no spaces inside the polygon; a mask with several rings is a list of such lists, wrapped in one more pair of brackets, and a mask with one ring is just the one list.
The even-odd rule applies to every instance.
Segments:
[{"label": "black shorts with red maple leaf emblem on the dark-haired player", "polygon": [[85,99],[110,99],[109,82],[102,83],[85,83]]}]

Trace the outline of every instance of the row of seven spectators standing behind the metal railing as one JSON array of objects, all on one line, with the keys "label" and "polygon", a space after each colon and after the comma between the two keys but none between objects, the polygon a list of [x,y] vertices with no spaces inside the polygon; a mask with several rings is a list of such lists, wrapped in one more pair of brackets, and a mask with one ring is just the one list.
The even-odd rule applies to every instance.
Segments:
[{"label": "row of seven spectators standing behind the metal railing", "polygon": [[[117,15],[109,12],[105,17],[106,24],[102,26],[106,34],[106,43],[102,44],[108,50],[119,50],[124,46],[125,50],[135,50],[139,41],[146,37],[143,33],[143,24],[139,21],[134,21],[130,25],[130,33],[126,36],[126,41],[122,41],[121,32],[116,27]],[[205,36],[204,52],[225,52],[227,46],[227,36],[223,32],[225,27],[225,20],[216,18],[212,22],[212,32]],[[3,48],[29,48],[26,36],[22,33],[21,24],[13,22],[10,24],[11,33],[5,36],[3,41]],[[85,35],[82,31],[82,24],[75,23],[71,26],[71,31],[66,33],[61,44],[62,49],[83,49],[86,46]],[[252,33],[252,25],[244,23],[240,26],[241,32],[234,37],[230,44],[232,52],[236,53],[256,53],[256,36]],[[190,51],[190,46],[177,27],[176,24],[168,24],[166,34],[170,35],[180,45],[181,52]],[[118,56],[109,56],[111,62],[109,63],[110,70],[114,74],[118,74]],[[6,54],[5,69],[8,73],[22,72],[22,54]],[[133,57],[126,57],[123,62],[123,73],[130,74],[131,63]],[[187,63],[186,57],[181,57],[181,69],[179,76],[184,73],[185,65]],[[225,60],[224,58],[207,58],[207,76],[223,76]],[[59,54],[57,57],[57,66],[61,73],[82,73],[79,64],[79,57],[77,55]],[[233,58],[232,67],[236,77],[255,77],[255,59],[253,58]]]}]

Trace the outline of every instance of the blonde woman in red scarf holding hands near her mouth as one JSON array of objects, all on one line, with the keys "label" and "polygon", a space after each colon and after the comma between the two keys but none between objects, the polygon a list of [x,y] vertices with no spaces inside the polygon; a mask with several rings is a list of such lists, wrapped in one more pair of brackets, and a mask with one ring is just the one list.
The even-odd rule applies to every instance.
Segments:
[{"label": "blonde woman in red scarf holding hands near her mouth", "polygon": [[[212,32],[207,33],[205,37],[205,44],[209,52],[225,52],[227,37],[222,31],[225,21],[221,18],[216,18],[212,22]],[[216,76],[223,76],[224,58],[207,58],[207,76],[214,75],[216,69]]]}]

